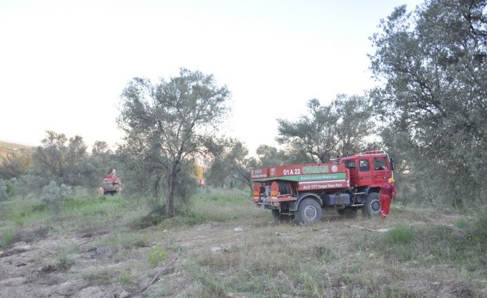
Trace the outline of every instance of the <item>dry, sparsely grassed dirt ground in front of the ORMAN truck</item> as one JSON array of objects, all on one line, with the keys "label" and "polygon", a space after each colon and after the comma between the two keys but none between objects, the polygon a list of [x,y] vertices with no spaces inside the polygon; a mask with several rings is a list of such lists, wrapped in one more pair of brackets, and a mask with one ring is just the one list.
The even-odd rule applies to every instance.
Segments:
[{"label": "dry, sparsely grassed dirt ground in front of the ORMAN truck", "polygon": [[[415,261],[390,263],[366,245],[357,245],[399,222],[453,226],[457,214],[393,210],[383,222],[362,216],[345,218],[330,211],[320,223],[300,226],[276,223],[265,210],[249,212],[250,216],[234,221],[170,229],[155,226],[138,232],[79,227],[61,234],[51,230],[42,239],[17,242],[0,252],[0,297],[124,297],[149,285],[158,273],[159,278],[140,297],[374,297],[374,286],[383,297],[487,297],[487,277],[466,278],[457,268],[438,263],[430,268]],[[146,255],[154,246],[164,248],[167,256],[164,263],[151,268]],[[252,279],[244,277],[245,272],[266,272],[276,256],[288,256],[292,262],[298,254],[315,256],[316,252],[316,261],[298,258],[320,272],[323,280],[318,283],[325,286],[310,283],[310,288],[318,286],[315,292],[301,291],[302,277],[292,277],[301,276],[305,269],[285,269],[287,263],[277,259],[279,265],[265,274],[280,281],[289,279],[291,285],[283,292],[271,287],[269,292],[260,292],[252,285],[253,290],[240,287],[234,292],[239,287],[225,283],[249,283]],[[160,272],[176,257],[174,266]],[[231,277],[235,274],[240,277]],[[263,288],[268,287],[265,274]],[[367,278],[360,281],[364,275]],[[371,288],[364,286],[367,283],[373,284]],[[480,290],[473,292],[472,284]],[[384,287],[405,290],[382,291]]]}]

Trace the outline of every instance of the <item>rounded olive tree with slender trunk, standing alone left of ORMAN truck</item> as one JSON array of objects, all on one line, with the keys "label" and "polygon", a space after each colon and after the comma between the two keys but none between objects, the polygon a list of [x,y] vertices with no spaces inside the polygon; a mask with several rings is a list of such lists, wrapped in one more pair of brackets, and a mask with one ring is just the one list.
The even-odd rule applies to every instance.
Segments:
[{"label": "rounded olive tree with slender trunk, standing alone left of ORMAN truck", "polygon": [[126,150],[146,162],[145,171],[166,184],[166,215],[173,216],[174,194],[184,165],[204,154],[229,107],[227,86],[213,75],[182,68],[178,77],[152,83],[136,77],[122,93],[118,123]]}]

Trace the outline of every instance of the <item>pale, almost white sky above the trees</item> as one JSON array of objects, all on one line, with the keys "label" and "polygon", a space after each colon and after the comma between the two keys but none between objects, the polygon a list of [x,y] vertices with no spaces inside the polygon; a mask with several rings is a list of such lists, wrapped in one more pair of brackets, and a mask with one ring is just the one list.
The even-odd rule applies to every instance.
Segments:
[{"label": "pale, almost white sky above the trees", "polygon": [[421,2],[0,0],[0,140],[40,145],[52,130],[113,146],[127,82],[184,67],[229,87],[225,134],[253,154],[309,99],[372,88],[368,38]]}]

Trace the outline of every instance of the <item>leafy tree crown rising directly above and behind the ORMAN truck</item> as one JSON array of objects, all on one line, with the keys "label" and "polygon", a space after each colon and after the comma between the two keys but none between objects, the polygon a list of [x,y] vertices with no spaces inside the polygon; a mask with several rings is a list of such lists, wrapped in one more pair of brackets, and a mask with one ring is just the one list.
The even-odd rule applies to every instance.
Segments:
[{"label": "leafy tree crown rising directly above and behind the ORMAN truck", "polygon": [[332,156],[361,151],[374,132],[366,97],[338,95],[327,106],[313,99],[307,108],[307,115],[296,122],[278,120],[276,140],[287,145],[289,156],[302,158],[295,162],[328,162]]}]

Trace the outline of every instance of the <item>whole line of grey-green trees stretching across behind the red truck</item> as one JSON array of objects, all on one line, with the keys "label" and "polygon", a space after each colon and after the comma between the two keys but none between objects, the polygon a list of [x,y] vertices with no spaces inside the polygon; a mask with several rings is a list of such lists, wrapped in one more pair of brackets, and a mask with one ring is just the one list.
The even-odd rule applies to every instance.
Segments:
[{"label": "whole line of grey-green trees stretching across behind the red truck", "polygon": [[93,189],[115,167],[124,192],[164,198],[172,216],[175,200],[191,198],[196,165],[206,165],[209,185],[251,189],[252,167],[385,149],[405,203],[479,202],[487,190],[487,0],[428,0],[410,12],[400,6],[370,40],[378,86],[330,104],[311,99],[298,120],[278,119],[278,148],[249,154],[242,140],[222,136],[228,87],[182,68],[169,80],[127,84],[117,119],[125,138],[115,151],[100,141],[88,154],[81,137],[48,131],[28,157],[3,159],[0,196],[9,183],[10,193],[12,183],[24,193],[51,181]]}]

